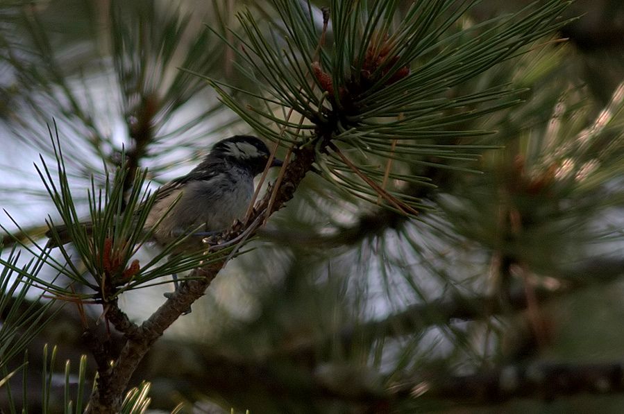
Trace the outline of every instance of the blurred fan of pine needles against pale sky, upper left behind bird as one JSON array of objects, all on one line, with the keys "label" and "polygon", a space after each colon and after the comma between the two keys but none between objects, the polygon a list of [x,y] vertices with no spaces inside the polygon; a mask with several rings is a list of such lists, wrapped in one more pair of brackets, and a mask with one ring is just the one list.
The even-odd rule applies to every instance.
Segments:
[{"label": "blurred fan of pine needles against pale sky, upper left behind bird", "polygon": [[[153,174],[199,159],[205,137],[239,121],[206,92],[205,82],[179,67],[221,73],[224,46],[210,38],[201,17],[180,8],[143,0],[101,6],[72,0],[67,9],[74,18],[59,34],[54,19],[65,18],[56,15],[59,5],[3,5],[10,18],[0,30],[0,64],[7,74],[0,87],[11,100],[0,111],[1,125],[53,156],[42,127],[56,119],[61,135],[72,137],[65,147],[70,178],[96,173],[98,186],[102,163],[117,168],[124,148],[149,160]],[[152,157],[156,152],[169,157]],[[47,193],[31,191],[47,199]]]}]

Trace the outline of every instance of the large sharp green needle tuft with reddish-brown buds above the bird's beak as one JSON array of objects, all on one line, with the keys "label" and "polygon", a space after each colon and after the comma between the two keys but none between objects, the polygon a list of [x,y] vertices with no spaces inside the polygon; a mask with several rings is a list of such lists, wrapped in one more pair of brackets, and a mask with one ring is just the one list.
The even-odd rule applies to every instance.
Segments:
[{"label": "large sharp green needle tuft with reddish-brown buds above the bird's beak", "polygon": [[[234,33],[242,48],[230,47],[243,62],[242,73],[260,78],[267,103],[300,114],[298,123],[289,119],[291,112],[276,117],[271,105],[250,107],[228,96],[217,80],[209,81],[226,105],[273,141],[301,145],[314,130],[317,138],[339,144],[343,149],[330,146],[327,155],[324,145],[317,146],[324,178],[358,198],[378,204],[383,198],[384,207],[415,216],[426,207],[407,189],[429,182],[410,168],[464,171],[457,162],[487,149],[474,139],[490,131],[454,127],[519,102],[519,91],[509,85],[455,96],[450,88],[564,25],[566,3],[548,1],[464,27],[457,21],[470,1],[414,3],[395,19],[399,3],[333,2],[331,33],[325,32],[327,22],[319,32],[311,8],[296,1],[272,2],[283,21],[269,26],[273,37],[251,11],[239,15],[246,37]],[[278,38],[273,31],[281,27],[287,33]],[[328,44],[326,37],[332,39]],[[398,184],[386,189],[389,181]]]}]

